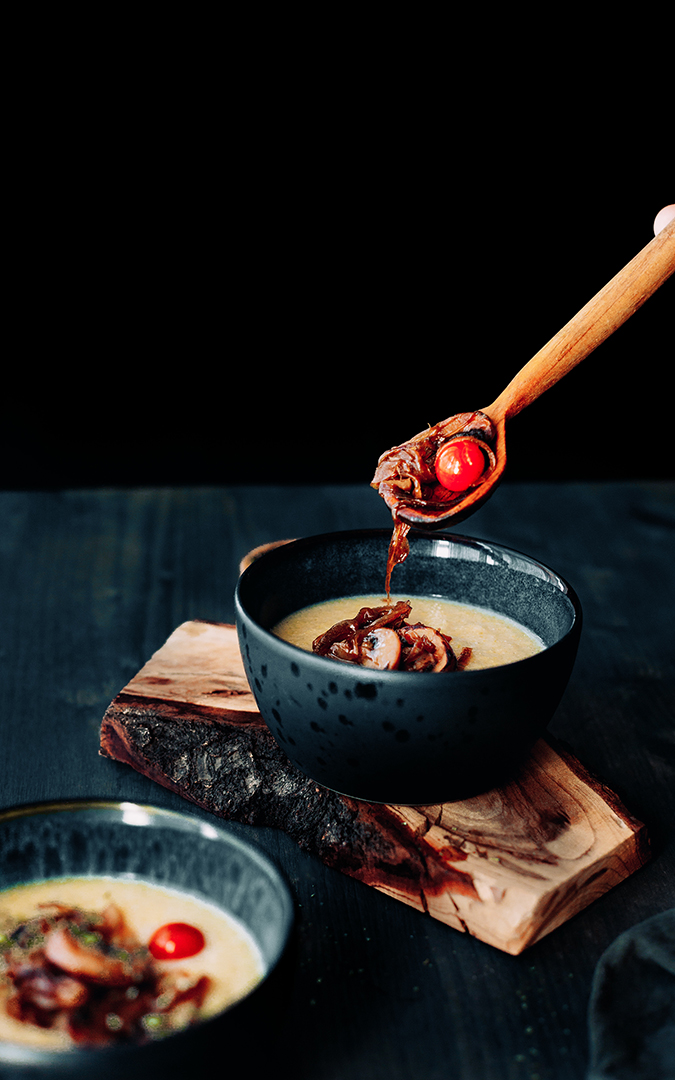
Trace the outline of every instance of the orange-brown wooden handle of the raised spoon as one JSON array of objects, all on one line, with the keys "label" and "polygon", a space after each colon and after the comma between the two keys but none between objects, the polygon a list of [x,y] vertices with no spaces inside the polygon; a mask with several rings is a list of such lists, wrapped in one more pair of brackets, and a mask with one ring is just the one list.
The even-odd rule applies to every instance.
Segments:
[{"label": "orange-brown wooden handle of the raised spoon", "polygon": [[531,405],[621,326],[675,270],[675,218],[536,353],[482,411],[499,423]]}]

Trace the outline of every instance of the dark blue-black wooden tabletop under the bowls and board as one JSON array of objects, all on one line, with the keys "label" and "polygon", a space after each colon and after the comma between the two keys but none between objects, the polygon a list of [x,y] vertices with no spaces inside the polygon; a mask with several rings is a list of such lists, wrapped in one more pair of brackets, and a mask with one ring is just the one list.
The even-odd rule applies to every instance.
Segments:
[{"label": "dark blue-black wooden tabletop under the bowls and board", "polygon": [[[179,623],[233,621],[249,549],[388,524],[367,485],[0,492],[0,805],[103,797],[200,814],[98,755],[106,706]],[[504,483],[458,528],[576,588],[584,630],[551,730],[653,847],[647,866],[523,955],[326,868],[278,832],[226,824],[278,862],[295,897],[279,1059],[296,1080],[584,1076],[598,958],[675,903],[674,529],[667,481]]]}]

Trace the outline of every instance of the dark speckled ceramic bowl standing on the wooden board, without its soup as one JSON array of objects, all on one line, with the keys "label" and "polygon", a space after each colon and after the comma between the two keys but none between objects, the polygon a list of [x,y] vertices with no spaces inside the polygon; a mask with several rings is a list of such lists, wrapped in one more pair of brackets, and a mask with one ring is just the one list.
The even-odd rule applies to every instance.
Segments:
[{"label": "dark speckled ceramic bowl standing on the wooden board, without its soup", "polygon": [[546,648],[499,667],[414,674],[319,657],[270,632],[310,604],[383,595],[390,537],[387,529],[308,537],[244,571],[235,610],[248,681],[280,746],[319,784],[374,802],[478,794],[505,779],[553,716],[577,653],[578,597],[554,570],[519,552],[411,532],[393,593],[507,615]]}]

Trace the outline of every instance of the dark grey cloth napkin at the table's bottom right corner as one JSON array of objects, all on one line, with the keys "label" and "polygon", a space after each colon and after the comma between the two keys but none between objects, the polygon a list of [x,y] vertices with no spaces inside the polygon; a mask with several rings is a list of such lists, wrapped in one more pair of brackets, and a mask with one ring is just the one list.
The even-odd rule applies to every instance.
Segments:
[{"label": "dark grey cloth napkin at the table's bottom right corner", "polygon": [[589,1002],[588,1080],[675,1080],[675,908],[617,937]]}]

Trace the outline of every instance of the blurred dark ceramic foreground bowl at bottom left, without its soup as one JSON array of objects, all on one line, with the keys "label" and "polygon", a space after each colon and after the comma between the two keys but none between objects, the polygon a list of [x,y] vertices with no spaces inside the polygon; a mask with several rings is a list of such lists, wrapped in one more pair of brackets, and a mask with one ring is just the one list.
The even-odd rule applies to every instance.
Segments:
[{"label": "blurred dark ceramic foreground bowl at bottom left, without its soup", "polygon": [[215,904],[246,927],[267,975],[225,1012],[153,1043],[54,1052],[0,1042],[2,1080],[185,1080],[191,1070],[205,1075],[214,1052],[259,1075],[258,1032],[269,1030],[276,1008],[293,927],[288,887],[269,859],[217,825],[151,806],[80,801],[0,812],[0,889],[75,876],[131,876]]}]

